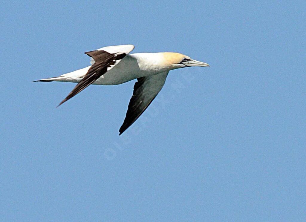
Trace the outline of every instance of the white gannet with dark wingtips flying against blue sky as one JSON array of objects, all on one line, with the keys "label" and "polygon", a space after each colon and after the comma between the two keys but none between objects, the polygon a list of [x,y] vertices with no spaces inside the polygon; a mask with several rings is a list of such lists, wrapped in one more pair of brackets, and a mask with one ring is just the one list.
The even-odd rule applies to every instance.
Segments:
[{"label": "white gannet with dark wingtips flying against blue sky", "polygon": [[58,105],[60,106],[90,84],[118,85],[137,79],[125,120],[119,129],[119,135],[121,135],[151,104],[162,89],[170,70],[190,66],[209,66],[207,63],[175,52],[129,54],[133,49],[133,45],[120,45],[85,52],[91,57],[90,66],[34,82],[77,83],[68,96],[60,102]]}]

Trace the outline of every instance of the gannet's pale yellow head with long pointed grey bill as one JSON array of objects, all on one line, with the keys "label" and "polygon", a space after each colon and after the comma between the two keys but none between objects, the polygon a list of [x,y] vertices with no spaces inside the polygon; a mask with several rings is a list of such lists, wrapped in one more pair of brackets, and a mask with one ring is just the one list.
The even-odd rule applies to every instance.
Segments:
[{"label": "gannet's pale yellow head with long pointed grey bill", "polygon": [[169,69],[176,68],[184,68],[189,66],[209,66],[205,62],[196,61],[189,56],[175,53],[175,52],[165,52],[163,53],[165,65],[169,67]]}]

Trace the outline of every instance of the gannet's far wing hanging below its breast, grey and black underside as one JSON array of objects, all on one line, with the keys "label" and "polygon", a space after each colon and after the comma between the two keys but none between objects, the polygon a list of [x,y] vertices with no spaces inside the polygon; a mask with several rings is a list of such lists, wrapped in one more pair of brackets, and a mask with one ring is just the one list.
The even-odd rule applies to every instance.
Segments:
[{"label": "gannet's far wing hanging below its breast, grey and black underside", "polygon": [[147,109],[153,99],[165,84],[169,71],[161,72],[154,76],[141,77],[137,79],[134,85],[132,98],[129,102],[128,111],[125,120],[119,129],[121,135],[129,128],[140,115]]}]

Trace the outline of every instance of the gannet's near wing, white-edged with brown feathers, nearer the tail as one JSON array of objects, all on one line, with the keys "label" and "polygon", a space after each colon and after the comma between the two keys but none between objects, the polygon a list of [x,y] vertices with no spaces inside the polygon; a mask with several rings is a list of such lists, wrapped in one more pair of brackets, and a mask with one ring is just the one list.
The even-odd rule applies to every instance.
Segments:
[{"label": "gannet's near wing, white-edged with brown feathers, nearer the tail", "polygon": [[[134,49],[133,45],[107,46],[90,52],[85,52],[91,57],[91,67],[84,78],[73,88],[68,96],[59,104],[62,105],[80,91],[84,90],[99,77],[117,65],[121,59]],[[58,106],[59,106],[58,105]]]}]

